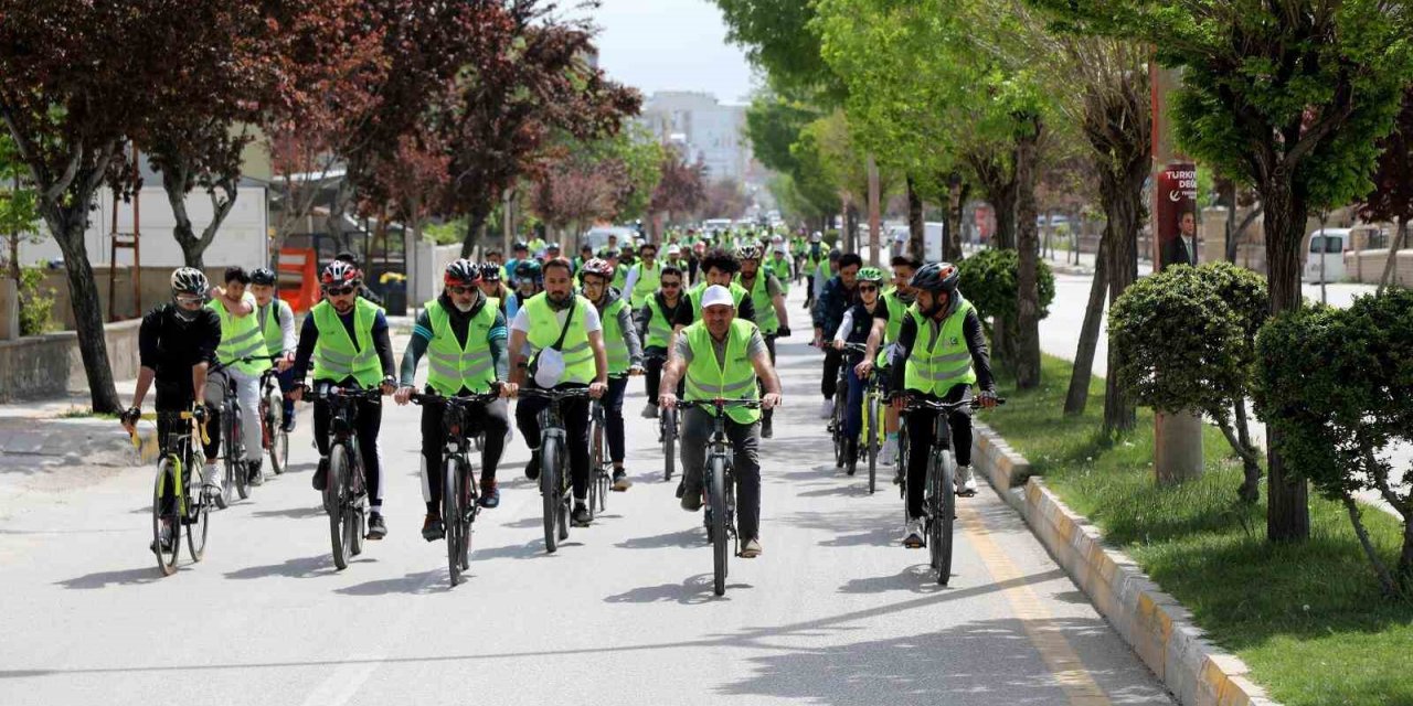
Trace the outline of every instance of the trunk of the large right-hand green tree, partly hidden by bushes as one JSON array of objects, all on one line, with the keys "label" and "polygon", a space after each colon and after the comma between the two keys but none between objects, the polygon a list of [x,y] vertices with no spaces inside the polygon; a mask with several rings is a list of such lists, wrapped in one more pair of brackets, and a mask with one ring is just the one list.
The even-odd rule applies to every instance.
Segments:
[{"label": "trunk of the large right-hand green tree, partly hidden by bushes", "polygon": [[[1270,288],[1270,313],[1299,309],[1304,304],[1300,292],[1300,246],[1304,243],[1306,203],[1296,196],[1290,174],[1277,167],[1260,185],[1260,201],[1266,208],[1266,282]],[[1270,442],[1266,452],[1266,472],[1270,481],[1266,501],[1266,538],[1272,542],[1300,542],[1310,538],[1310,507],[1306,480],[1296,469],[1287,469],[1276,453],[1279,432],[1267,428]]]}]

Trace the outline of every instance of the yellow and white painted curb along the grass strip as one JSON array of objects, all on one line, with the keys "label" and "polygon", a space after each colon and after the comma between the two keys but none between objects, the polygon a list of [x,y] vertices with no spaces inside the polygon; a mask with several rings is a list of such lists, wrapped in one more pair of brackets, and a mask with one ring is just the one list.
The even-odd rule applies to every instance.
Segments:
[{"label": "yellow and white painted curb along the grass strip", "polygon": [[1024,456],[991,428],[975,428],[976,469],[1178,703],[1279,706],[1251,679],[1245,662],[1205,640],[1177,599],[1128,555],[1105,546],[1099,530],[1065,507],[1041,477],[1030,476]]}]

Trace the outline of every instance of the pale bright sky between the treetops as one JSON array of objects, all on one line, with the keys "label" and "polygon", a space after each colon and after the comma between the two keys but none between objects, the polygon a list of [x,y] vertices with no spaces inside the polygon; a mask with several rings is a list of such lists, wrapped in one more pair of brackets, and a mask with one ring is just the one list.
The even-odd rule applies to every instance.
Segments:
[{"label": "pale bright sky between the treetops", "polygon": [[722,103],[745,103],[752,69],[726,42],[711,0],[603,0],[592,16],[599,66],[643,96],[654,90],[704,90]]}]

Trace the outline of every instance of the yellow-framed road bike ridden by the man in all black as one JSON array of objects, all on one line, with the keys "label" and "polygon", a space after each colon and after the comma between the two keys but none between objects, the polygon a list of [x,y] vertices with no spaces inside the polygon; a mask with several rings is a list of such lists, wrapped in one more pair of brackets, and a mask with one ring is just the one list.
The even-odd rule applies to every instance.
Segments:
[{"label": "yellow-framed road bike ridden by the man in all black", "polygon": [[[157,481],[153,487],[153,554],[157,555],[157,569],[162,576],[171,576],[177,573],[177,558],[181,555],[182,525],[187,527],[187,551],[191,554],[191,561],[199,562],[206,555],[213,498],[206,493],[192,496],[188,483],[191,469],[202,466],[192,438],[199,436],[202,442],[211,442],[206,436],[206,409],[196,404],[184,412],[154,412],[138,418],[168,425],[162,439],[165,455],[157,465]],[[181,432],[184,425],[187,431]],[[133,445],[137,446],[140,443],[137,433],[133,432],[131,436]],[[171,500],[167,500],[168,491]],[[171,532],[165,538],[164,528],[170,528]]]}]

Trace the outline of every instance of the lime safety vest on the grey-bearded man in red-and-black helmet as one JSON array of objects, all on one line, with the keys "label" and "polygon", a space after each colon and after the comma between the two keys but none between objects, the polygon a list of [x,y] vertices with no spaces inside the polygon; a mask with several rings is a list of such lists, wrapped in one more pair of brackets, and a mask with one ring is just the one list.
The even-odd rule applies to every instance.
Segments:
[{"label": "lime safety vest on the grey-bearded man in red-and-black helmet", "polygon": [[490,329],[496,326],[499,299],[486,304],[472,316],[466,326],[465,347],[456,343],[456,332],[451,328],[451,313],[437,299],[422,305],[432,325],[432,337],[427,342],[427,384],[444,395],[454,395],[462,387],[472,393],[490,391],[496,380],[496,360],[490,354]]}]

